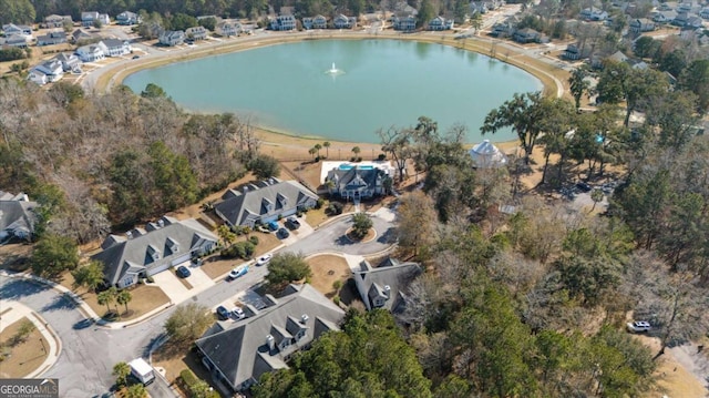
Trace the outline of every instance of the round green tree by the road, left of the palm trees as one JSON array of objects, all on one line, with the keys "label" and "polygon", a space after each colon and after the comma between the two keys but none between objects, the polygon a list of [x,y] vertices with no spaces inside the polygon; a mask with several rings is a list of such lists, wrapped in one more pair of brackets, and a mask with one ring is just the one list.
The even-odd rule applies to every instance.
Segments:
[{"label": "round green tree by the road, left of the palm trees", "polygon": [[34,246],[30,263],[35,275],[55,278],[64,271],[76,268],[79,249],[66,236],[45,234]]}]

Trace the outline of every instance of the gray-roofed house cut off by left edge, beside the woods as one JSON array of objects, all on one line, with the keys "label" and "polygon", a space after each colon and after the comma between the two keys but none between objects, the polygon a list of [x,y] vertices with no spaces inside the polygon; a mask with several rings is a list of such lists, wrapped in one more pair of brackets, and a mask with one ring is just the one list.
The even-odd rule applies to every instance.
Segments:
[{"label": "gray-roofed house cut off by left edge, beside the woods", "polygon": [[32,239],[38,221],[37,207],[38,204],[30,202],[25,194],[0,191],[0,242]]}]

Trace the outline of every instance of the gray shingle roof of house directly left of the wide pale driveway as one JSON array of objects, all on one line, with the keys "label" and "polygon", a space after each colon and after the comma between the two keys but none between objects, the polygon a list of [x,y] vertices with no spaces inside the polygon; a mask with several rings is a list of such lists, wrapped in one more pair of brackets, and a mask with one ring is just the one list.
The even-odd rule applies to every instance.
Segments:
[{"label": "gray shingle roof of house directly left of the wide pale driveway", "polygon": [[[178,222],[163,217],[161,221],[163,226],[157,229],[131,231],[131,238],[123,239],[115,235],[106,237],[101,245],[103,252],[93,255],[92,258],[104,264],[104,274],[111,285],[121,280],[127,272],[155,268],[186,253],[197,251],[205,244],[217,242],[217,237],[195,220]],[[172,249],[174,243],[177,244],[175,253]],[[155,252],[160,253],[157,259],[152,257]]]}]

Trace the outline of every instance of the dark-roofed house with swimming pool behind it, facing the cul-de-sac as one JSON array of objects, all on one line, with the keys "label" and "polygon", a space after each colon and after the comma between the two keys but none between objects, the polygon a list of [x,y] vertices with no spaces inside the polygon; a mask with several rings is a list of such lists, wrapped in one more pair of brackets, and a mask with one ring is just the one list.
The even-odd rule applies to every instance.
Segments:
[{"label": "dark-roofed house with swimming pool behind it, facing the cul-de-sac", "polygon": [[328,192],[342,198],[360,200],[384,195],[384,182],[392,176],[391,171],[378,166],[335,167],[328,172],[325,185]]}]

